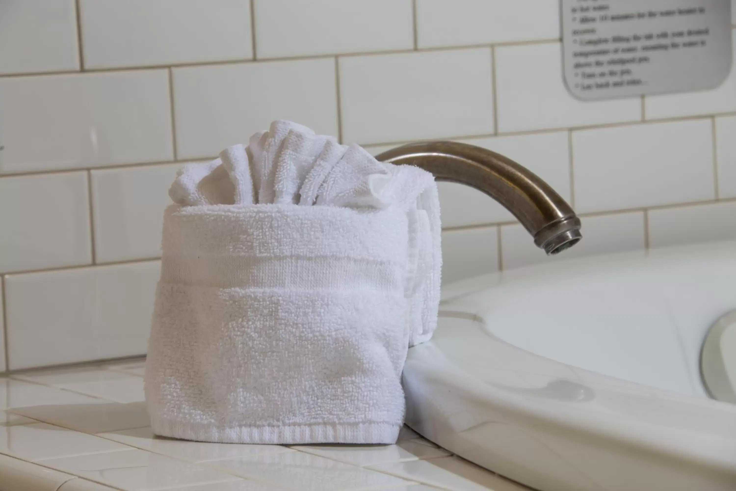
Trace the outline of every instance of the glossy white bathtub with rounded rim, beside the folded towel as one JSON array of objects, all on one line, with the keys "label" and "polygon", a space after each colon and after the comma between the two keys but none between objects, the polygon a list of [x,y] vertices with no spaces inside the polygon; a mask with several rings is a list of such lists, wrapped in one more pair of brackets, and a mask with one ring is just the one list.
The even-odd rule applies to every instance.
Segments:
[{"label": "glossy white bathtub with rounded rim, beside the folded towel", "polygon": [[407,423],[542,491],[736,490],[736,405],[701,345],[736,309],[736,242],[598,256],[444,289]]}]

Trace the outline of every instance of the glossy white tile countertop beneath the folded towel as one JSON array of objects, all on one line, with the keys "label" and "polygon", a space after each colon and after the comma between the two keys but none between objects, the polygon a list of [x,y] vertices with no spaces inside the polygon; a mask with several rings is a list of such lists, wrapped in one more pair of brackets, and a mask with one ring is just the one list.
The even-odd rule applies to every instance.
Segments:
[{"label": "glossy white tile countertop beneath the folded towel", "polygon": [[404,427],[396,445],[228,445],[157,438],[141,359],[0,378],[0,490],[528,488]]}]

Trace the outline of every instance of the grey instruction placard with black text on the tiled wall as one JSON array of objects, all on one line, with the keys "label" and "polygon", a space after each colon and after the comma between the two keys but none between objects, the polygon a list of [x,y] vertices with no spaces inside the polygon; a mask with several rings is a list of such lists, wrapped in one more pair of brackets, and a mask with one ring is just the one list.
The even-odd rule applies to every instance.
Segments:
[{"label": "grey instruction placard with black text on the tiled wall", "polygon": [[702,91],[732,66],[731,0],[562,0],[565,82],[578,99]]}]

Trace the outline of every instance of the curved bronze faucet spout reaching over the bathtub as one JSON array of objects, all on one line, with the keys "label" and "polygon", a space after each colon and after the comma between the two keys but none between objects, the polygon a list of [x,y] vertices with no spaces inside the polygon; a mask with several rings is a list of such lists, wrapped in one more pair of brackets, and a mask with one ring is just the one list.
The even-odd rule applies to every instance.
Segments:
[{"label": "curved bronze faucet spout reaching over the bathtub", "polygon": [[376,156],[382,162],[410,164],[436,180],[471,186],[506,207],[534,237],[534,244],[556,254],[582,238],[580,219],[545,181],[513,160],[480,146],[453,141],[408,144]]}]

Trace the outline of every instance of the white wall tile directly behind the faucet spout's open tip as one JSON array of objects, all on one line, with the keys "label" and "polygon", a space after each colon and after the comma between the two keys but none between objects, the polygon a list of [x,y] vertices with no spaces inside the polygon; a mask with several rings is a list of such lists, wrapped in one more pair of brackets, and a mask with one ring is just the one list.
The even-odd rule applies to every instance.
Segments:
[{"label": "white wall tile directly behind the faucet spout's open tip", "polygon": [[643,251],[645,248],[643,211],[584,216],[581,221],[583,239],[575,247],[552,256],[545,255],[534,245],[534,239],[521,225],[501,226],[503,269],[610,252]]}]

